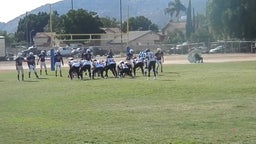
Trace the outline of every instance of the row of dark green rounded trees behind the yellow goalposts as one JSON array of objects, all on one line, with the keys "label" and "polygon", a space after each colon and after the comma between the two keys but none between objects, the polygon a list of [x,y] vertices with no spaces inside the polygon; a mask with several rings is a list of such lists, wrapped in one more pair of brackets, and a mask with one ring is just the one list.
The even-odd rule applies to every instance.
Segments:
[{"label": "row of dark green rounded trees behind the yellow goalposts", "polygon": [[[51,22],[50,22],[51,20]],[[52,23],[52,31],[58,34],[99,34],[104,33],[103,27],[120,27],[120,22],[115,18],[99,17],[96,12],[84,9],[70,10],[64,15],[59,15],[54,11],[50,14],[39,12],[36,14],[26,15],[19,21],[16,40],[31,41],[36,32],[50,32]],[[126,30],[127,21],[123,24],[122,31]],[[158,30],[156,24],[153,24],[144,16],[131,17],[129,19],[129,30]]]}]

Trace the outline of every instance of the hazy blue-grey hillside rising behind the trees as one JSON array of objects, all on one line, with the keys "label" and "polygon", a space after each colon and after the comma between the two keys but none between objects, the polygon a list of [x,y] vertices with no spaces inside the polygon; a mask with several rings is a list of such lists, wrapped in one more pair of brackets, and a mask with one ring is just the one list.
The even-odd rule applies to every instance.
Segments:
[{"label": "hazy blue-grey hillside rising behind the trees", "polygon": [[[145,16],[153,23],[157,24],[160,28],[166,25],[170,19],[168,15],[164,14],[164,9],[168,6],[171,0],[123,0],[123,21],[127,19],[129,8],[129,17]],[[188,0],[181,0],[187,7]],[[192,7],[195,12],[204,13],[207,0],[192,0]],[[95,11],[100,17],[113,17],[120,19],[120,3],[117,0],[75,0],[73,3],[74,9],[86,9],[88,11]],[[62,0],[52,4],[52,10],[56,10],[60,15],[67,13],[71,9],[70,0]],[[37,14],[38,12],[49,12],[50,6],[43,5],[32,10],[29,13]],[[7,32],[16,32],[20,18],[25,14],[9,21],[8,23],[0,23],[0,29]]]}]

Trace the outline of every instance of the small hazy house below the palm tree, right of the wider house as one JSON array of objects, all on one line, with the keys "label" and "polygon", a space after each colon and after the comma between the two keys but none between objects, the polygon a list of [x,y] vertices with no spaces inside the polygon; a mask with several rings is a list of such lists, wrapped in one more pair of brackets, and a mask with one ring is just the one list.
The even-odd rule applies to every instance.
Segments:
[{"label": "small hazy house below the palm tree, right of the wider house", "polygon": [[163,29],[162,29],[162,34],[163,35],[168,35],[170,32],[174,31],[182,31],[183,33],[186,32],[186,22],[169,22]]}]

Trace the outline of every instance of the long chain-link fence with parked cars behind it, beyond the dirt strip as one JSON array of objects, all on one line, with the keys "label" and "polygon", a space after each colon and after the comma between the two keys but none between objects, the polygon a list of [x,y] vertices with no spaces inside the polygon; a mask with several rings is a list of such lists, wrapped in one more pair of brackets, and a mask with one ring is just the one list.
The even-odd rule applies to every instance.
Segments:
[{"label": "long chain-link fence with parked cars behind it, beyond the dirt strip", "polygon": [[[173,55],[173,54],[182,54],[186,55],[193,49],[199,49],[202,53],[255,53],[256,52],[256,41],[218,41],[218,42],[210,42],[208,45],[204,43],[183,43],[179,45],[175,44],[163,44],[163,43],[118,43],[111,44],[108,41],[92,41],[83,44],[80,48],[88,48],[89,46],[97,46],[100,47],[101,51],[109,51],[115,55],[125,56],[126,47],[129,46],[131,49],[135,51],[135,53],[139,53],[145,49],[150,49],[151,51],[156,51],[157,48],[161,48],[165,55]],[[39,47],[39,50],[50,50],[52,47]],[[55,47],[53,49],[56,49]],[[16,55],[18,52],[24,51],[24,48],[7,48],[7,53]]]}]

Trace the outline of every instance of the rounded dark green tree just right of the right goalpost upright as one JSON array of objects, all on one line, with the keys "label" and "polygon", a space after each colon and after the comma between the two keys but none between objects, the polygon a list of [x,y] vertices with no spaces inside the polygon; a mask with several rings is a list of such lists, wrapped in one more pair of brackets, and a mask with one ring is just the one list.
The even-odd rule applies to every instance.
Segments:
[{"label": "rounded dark green tree just right of the right goalpost upright", "polygon": [[[123,31],[127,31],[127,21],[123,24]],[[147,19],[144,16],[137,16],[129,18],[129,31],[145,31],[145,30],[152,30],[158,31],[158,27],[156,24],[153,24],[151,20]]]}]

